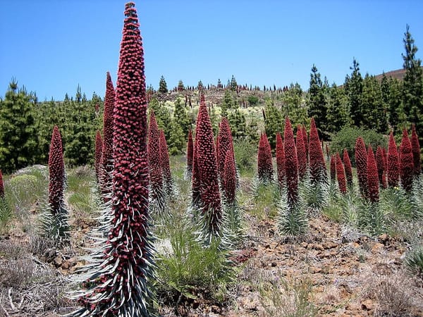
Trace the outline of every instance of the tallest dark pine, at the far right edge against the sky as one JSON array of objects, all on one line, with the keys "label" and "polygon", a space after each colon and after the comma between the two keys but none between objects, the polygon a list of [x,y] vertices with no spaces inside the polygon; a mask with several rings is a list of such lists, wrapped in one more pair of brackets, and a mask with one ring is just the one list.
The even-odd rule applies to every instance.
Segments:
[{"label": "tallest dark pine, at the far right edge against the sky", "polygon": [[[415,123],[417,135],[423,142],[423,70],[422,61],[416,58],[417,46],[410,34],[410,26],[404,33],[405,55],[403,56],[405,76],[403,79],[403,107],[407,121]],[[405,128],[405,127],[403,127]]]}]

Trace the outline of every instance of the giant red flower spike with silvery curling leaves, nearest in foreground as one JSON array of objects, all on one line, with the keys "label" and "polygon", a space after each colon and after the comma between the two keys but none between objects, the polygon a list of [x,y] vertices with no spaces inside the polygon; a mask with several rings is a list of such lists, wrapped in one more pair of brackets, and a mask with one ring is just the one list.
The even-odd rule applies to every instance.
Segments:
[{"label": "giant red flower spike with silvery curling leaves, nearest in foreground", "polygon": [[107,241],[87,268],[73,316],[149,316],[154,261],[149,235],[149,166],[144,50],[135,4],[125,22],[114,107],[113,191]]}]

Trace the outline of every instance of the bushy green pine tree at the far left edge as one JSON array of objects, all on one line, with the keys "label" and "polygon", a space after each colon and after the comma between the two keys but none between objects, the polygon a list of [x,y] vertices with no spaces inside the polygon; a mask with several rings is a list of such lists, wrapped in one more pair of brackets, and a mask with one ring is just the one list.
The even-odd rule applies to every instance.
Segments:
[{"label": "bushy green pine tree at the far left edge", "polygon": [[37,149],[34,95],[18,89],[12,79],[4,100],[0,101],[0,166],[6,173],[34,162]]}]

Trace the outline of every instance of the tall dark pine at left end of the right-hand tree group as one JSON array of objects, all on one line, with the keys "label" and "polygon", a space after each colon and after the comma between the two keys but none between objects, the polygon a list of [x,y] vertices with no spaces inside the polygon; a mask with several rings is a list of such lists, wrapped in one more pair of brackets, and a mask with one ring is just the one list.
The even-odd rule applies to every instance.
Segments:
[{"label": "tall dark pine at left end of the right-hand tree group", "polygon": [[320,73],[313,64],[312,73],[310,74],[309,100],[307,101],[309,118],[314,118],[319,123],[319,132],[323,139],[328,139],[326,126],[326,113],[328,102],[326,97],[326,88],[321,82]]}]

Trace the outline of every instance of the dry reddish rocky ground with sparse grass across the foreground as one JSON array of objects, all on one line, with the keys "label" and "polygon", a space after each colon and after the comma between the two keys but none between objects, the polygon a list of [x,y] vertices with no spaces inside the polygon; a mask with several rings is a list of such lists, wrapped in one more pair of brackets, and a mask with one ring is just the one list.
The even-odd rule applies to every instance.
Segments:
[{"label": "dry reddish rocky ground with sparse grass across the foreground", "polygon": [[[31,216],[32,215],[32,216]],[[28,223],[35,218],[30,211]],[[59,316],[68,277],[84,263],[94,223],[74,218],[73,245],[57,250],[16,224],[0,237],[0,316]],[[423,316],[423,280],[405,271],[407,242],[367,237],[317,216],[300,240],[277,235],[275,220],[245,212],[233,253],[237,281],[225,303],[184,299],[161,316]]]}]

